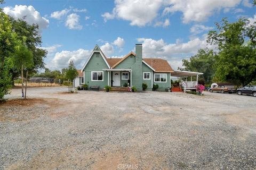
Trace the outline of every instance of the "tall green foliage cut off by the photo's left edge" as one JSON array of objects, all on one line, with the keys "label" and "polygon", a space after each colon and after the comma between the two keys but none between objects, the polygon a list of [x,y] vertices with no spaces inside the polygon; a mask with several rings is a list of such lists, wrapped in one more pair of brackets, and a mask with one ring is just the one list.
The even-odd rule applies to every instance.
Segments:
[{"label": "tall green foliage cut off by the photo's left edge", "polygon": [[17,35],[12,31],[9,16],[1,9],[0,21],[0,101],[3,101],[4,95],[10,93],[12,78],[10,70],[13,67],[11,56],[15,53]]}]

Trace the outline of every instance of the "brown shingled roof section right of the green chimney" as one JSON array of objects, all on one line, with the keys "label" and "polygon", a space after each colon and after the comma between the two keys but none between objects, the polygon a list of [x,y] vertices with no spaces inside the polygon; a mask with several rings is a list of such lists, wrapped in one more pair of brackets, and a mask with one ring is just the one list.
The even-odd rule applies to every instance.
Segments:
[{"label": "brown shingled roof section right of the green chimney", "polygon": [[148,65],[155,69],[155,72],[163,73],[163,72],[173,72],[170,64],[161,58],[143,58]]}]

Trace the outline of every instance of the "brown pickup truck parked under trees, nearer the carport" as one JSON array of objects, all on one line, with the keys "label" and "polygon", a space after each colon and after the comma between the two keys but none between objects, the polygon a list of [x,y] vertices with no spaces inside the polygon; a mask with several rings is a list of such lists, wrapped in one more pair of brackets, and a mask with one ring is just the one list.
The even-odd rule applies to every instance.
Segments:
[{"label": "brown pickup truck parked under trees, nearer the carport", "polygon": [[228,92],[229,94],[231,94],[233,92],[236,92],[236,88],[235,85],[231,83],[213,83],[209,91],[217,91],[221,92],[222,94]]}]

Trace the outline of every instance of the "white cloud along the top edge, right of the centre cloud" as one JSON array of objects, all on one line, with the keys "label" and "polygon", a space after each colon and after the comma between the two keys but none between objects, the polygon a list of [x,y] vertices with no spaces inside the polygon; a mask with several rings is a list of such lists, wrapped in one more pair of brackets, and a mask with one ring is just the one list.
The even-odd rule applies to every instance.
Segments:
[{"label": "white cloud along the top edge, right of the centre cloud", "polygon": [[231,8],[241,3],[241,0],[207,0],[207,1],[180,1],[171,0],[170,6],[165,7],[164,13],[183,13],[183,23],[191,21],[202,22],[206,21],[215,12],[222,8]]}]

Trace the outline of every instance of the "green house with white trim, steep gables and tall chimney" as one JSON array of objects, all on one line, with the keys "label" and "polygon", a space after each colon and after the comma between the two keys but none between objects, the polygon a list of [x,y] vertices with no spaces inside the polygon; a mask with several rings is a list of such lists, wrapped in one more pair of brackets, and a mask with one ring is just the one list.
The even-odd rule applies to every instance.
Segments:
[{"label": "green house with white trim, steep gables and tall chimney", "polygon": [[135,54],[131,52],[123,58],[107,58],[96,45],[81,72],[89,88],[123,87],[128,84],[142,91],[142,83],[146,83],[147,90],[158,84],[158,90],[164,91],[171,87],[173,69],[161,58],[142,58],[141,44],[135,45]]}]

